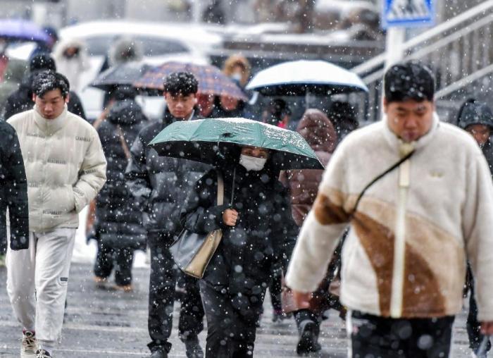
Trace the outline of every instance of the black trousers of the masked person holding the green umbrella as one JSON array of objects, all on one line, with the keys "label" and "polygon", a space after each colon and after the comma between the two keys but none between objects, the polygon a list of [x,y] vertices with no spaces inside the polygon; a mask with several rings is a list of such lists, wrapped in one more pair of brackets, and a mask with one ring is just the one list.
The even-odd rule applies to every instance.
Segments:
[{"label": "black trousers of the masked person holding the green umbrella", "polygon": [[266,288],[254,297],[232,297],[200,280],[200,290],[207,317],[206,358],[253,357]]}]

